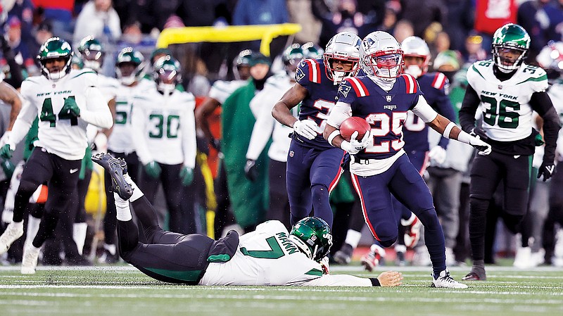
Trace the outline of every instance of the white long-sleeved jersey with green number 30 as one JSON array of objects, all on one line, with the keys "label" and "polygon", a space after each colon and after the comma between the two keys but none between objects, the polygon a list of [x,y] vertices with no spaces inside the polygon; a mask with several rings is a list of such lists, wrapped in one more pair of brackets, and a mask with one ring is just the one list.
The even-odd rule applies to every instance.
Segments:
[{"label": "white long-sleeved jersey with green number 30", "polygon": [[156,161],[166,165],[196,165],[194,95],[175,89],[160,94],[153,84],[137,90],[131,115],[132,139],[143,165]]}]

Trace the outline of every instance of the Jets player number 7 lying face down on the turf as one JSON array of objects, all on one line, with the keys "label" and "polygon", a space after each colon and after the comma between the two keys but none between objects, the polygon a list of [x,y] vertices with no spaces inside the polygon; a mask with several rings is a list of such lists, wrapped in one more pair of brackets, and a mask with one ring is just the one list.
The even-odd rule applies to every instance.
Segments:
[{"label": "Jets player number 7 lying face down on the turf", "polygon": [[[383,272],[377,278],[324,274],[316,260],[329,253],[329,225],[318,217],[305,217],[288,232],[271,220],[255,231],[239,236],[230,231],[217,241],[201,234],[166,232],[144,194],[127,175],[125,161],[100,153],[92,157],[108,170],[113,181],[118,218],[120,255],[150,277],[188,285],[254,286],[397,286],[399,272]],[[146,244],[139,243],[139,229],[129,203],[143,225]]]}]

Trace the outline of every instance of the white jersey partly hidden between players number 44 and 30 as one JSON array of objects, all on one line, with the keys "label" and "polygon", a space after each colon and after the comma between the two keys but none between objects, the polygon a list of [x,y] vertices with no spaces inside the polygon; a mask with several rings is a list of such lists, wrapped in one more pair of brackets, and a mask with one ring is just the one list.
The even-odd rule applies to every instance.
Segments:
[{"label": "white jersey partly hidden between players number 44 and 30", "polygon": [[151,85],[154,85],[151,80],[139,80],[139,83],[134,87],[120,85],[118,94],[115,95],[113,129],[108,139],[108,149],[111,151],[116,153],[132,153],[135,151],[131,132],[133,96],[150,89]]}]

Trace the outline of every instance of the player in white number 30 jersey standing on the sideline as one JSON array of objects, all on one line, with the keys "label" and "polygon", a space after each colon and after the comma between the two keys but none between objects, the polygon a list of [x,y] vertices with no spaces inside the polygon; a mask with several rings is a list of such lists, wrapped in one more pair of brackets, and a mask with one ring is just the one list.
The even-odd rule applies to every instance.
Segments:
[{"label": "player in white number 30 jersey standing on the sideline", "polygon": [[182,214],[182,187],[194,179],[196,166],[196,123],[194,95],[179,91],[180,65],[170,55],[158,58],[153,66],[151,87],[133,97],[131,132],[139,162],[143,165],[139,184],[149,201],[156,198],[162,183],[170,213],[170,230],[193,229],[194,218]]}]

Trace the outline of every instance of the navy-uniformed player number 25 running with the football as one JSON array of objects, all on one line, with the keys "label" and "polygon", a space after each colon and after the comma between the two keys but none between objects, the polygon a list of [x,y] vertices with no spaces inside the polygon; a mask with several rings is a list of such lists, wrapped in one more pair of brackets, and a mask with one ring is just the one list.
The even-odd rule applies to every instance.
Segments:
[{"label": "navy-uniformed player number 25 running with the football", "polygon": [[[425,227],[424,236],[433,265],[432,286],[463,289],[445,265],[444,236],[424,179],[405,155],[403,124],[412,110],[430,127],[449,139],[457,139],[486,155],[491,146],[473,137],[429,106],[412,75],[400,75],[403,51],[386,32],[372,32],[362,40],[360,65],[366,76],[343,80],[339,99],[332,109],[324,137],[329,144],[343,148],[352,157],[350,172],[365,221],[382,246],[391,246],[398,237],[397,220],[391,194],[415,213]],[[341,137],[341,123],[358,116],[372,125],[370,137],[350,141]]]}]

